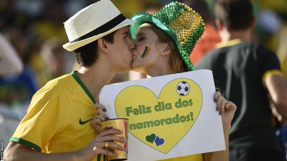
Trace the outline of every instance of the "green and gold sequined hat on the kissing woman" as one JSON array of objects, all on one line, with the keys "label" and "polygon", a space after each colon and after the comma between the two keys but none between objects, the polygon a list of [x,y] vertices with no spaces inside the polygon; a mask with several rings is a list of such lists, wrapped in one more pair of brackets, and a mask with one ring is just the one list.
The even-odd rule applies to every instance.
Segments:
[{"label": "green and gold sequined hat on the kissing woman", "polygon": [[176,1],[166,5],[153,15],[136,13],[131,20],[137,21],[130,26],[132,40],[135,39],[139,26],[143,23],[154,24],[174,40],[188,69],[194,70],[189,55],[205,29],[204,22],[198,13]]}]

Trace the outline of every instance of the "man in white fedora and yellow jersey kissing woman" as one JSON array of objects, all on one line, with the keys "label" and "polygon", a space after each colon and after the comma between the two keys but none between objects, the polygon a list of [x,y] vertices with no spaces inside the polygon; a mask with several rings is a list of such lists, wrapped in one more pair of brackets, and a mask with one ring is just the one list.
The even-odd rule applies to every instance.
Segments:
[{"label": "man in white fedora and yellow jersey kissing woman", "polygon": [[5,160],[106,160],[105,155],[117,155],[104,147],[124,150],[108,142],[124,143],[124,138],[112,135],[122,131],[99,134],[91,120],[101,88],[115,73],[131,70],[135,45],[126,26],[134,22],[110,0],[102,0],[64,23],[70,42],[63,47],[74,50],[81,69],[51,80],[33,96]]}]

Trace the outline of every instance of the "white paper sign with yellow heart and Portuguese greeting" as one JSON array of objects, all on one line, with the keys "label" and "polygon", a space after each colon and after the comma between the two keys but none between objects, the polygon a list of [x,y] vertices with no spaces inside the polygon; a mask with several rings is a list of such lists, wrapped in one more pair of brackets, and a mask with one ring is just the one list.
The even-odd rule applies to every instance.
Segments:
[{"label": "white paper sign with yellow heart and Portuguese greeting", "polygon": [[161,160],[225,150],[210,70],[106,85],[109,118],[129,119],[129,160]]}]

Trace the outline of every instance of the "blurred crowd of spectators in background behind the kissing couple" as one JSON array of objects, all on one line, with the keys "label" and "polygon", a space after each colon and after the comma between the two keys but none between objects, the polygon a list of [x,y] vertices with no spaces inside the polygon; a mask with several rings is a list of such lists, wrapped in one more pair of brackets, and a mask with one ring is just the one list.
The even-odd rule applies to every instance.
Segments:
[{"label": "blurred crowd of spectators in background behind the kissing couple", "polygon": [[[130,18],[137,12],[156,13],[171,0],[111,0]],[[14,74],[0,72],[0,108],[27,112],[32,96],[49,80],[79,70],[74,53],[62,45],[68,42],[64,22],[97,0],[0,0],[0,42],[8,40],[15,55],[5,55],[0,45],[0,59],[13,57],[21,65]],[[191,60],[195,64],[221,40],[216,32],[213,10],[216,0],[178,0],[201,14],[206,31],[197,43]],[[204,2],[204,3],[202,3]],[[287,74],[287,1],[253,0],[257,18],[252,41],[271,49]],[[3,40],[2,40],[3,39]],[[8,45],[6,45],[7,47]],[[5,47],[4,47],[5,48]],[[16,56],[16,58],[14,57]],[[21,62],[16,62],[19,59]],[[267,62],[266,62],[267,63]],[[0,65],[1,67],[1,65]],[[110,83],[133,79],[134,72],[116,74]],[[145,77],[140,75],[141,77]],[[21,118],[20,118],[21,119]]]}]

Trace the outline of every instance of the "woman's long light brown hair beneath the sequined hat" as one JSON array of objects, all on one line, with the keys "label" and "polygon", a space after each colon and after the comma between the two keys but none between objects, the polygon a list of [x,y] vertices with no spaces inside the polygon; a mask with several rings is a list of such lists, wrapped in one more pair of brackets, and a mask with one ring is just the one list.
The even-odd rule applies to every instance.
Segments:
[{"label": "woman's long light brown hair beneath the sequined hat", "polygon": [[189,71],[183,59],[181,58],[181,55],[177,49],[176,43],[174,43],[173,39],[168,34],[166,34],[161,28],[153,24],[146,23],[146,25],[140,26],[139,29],[151,29],[156,33],[159,42],[168,43],[169,47],[172,49],[171,50],[171,67],[172,67],[173,73],[182,73],[182,72]]}]

